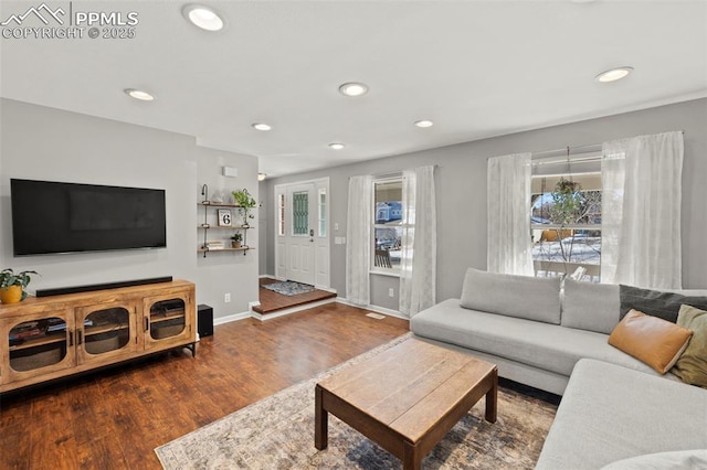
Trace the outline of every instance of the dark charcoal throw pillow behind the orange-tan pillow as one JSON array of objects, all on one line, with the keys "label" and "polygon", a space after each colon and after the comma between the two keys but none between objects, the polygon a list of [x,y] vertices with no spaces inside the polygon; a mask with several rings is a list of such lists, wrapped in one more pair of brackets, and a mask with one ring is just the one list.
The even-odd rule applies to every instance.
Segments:
[{"label": "dark charcoal throw pillow behind the orange-tan pillow", "polygon": [[623,284],[619,286],[619,297],[621,299],[621,320],[631,309],[673,323],[677,322],[677,313],[680,311],[682,305],[707,310],[707,297],[683,296],[675,292],[624,286]]}]

